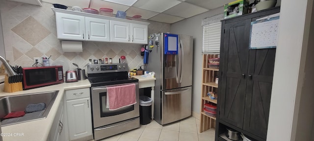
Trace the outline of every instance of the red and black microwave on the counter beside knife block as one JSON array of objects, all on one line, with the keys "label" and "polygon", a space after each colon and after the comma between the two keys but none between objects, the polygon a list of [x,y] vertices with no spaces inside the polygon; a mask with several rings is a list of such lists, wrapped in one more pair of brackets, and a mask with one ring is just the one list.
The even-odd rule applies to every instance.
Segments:
[{"label": "red and black microwave on the counter beside knife block", "polygon": [[62,66],[23,68],[23,90],[63,83]]}]

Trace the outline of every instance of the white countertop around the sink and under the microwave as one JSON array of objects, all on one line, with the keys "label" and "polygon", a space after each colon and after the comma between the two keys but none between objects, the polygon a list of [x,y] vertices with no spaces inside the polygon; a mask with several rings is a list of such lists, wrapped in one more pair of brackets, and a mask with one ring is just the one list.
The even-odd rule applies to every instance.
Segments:
[{"label": "white countertop around the sink and under the microwave", "polygon": [[[29,94],[29,93],[37,93],[37,92],[48,92],[48,91],[59,91],[59,94],[55,98],[55,101],[52,105],[52,108],[47,118],[1,127],[2,135],[5,135],[3,133],[9,133],[9,134],[12,133],[12,136],[13,136],[13,137],[2,136],[3,141],[47,141],[47,138],[50,133],[50,129],[52,127],[53,119],[55,118],[55,115],[57,112],[57,108],[60,104],[61,99],[63,98],[64,90],[91,87],[88,79],[86,79],[86,80],[82,80],[78,82],[62,83],[62,84],[46,86],[46,87],[41,87],[41,88],[36,88],[36,89],[19,91],[15,93],[5,93],[3,92],[3,85],[4,85],[3,83],[0,84],[0,96]],[[17,134],[14,134],[14,133],[17,133]]]}]

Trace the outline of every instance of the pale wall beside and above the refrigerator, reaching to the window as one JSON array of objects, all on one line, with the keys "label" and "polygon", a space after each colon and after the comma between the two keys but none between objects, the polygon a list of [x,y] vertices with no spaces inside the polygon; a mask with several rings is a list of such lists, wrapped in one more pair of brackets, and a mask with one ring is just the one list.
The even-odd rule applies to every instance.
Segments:
[{"label": "pale wall beside and above the refrigerator, reaching to the window", "polygon": [[[209,12],[191,17],[189,19],[171,24],[170,32],[193,36],[193,83],[192,83],[192,112],[200,114],[201,111],[201,90],[202,90],[202,47],[203,47],[203,26],[202,19],[216,14],[223,13],[223,7],[210,10]],[[196,116],[196,115],[194,115]],[[196,116],[196,118],[200,118]]]}]

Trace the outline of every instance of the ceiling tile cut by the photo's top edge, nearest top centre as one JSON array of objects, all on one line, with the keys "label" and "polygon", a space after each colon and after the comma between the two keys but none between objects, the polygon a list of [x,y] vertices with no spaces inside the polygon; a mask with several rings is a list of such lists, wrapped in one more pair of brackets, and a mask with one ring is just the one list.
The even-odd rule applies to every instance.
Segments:
[{"label": "ceiling tile cut by the photo's top edge, nearest top centre", "polygon": [[168,8],[181,3],[179,0],[137,0],[133,7],[150,10],[154,12],[163,12]]}]

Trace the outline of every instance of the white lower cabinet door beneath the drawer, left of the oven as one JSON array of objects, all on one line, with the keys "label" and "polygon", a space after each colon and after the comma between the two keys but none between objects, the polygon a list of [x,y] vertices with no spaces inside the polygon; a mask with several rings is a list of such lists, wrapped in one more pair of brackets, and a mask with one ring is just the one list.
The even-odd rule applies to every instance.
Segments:
[{"label": "white lower cabinet door beneath the drawer, left of the oven", "polygon": [[92,135],[90,98],[67,100],[66,103],[70,140]]}]

